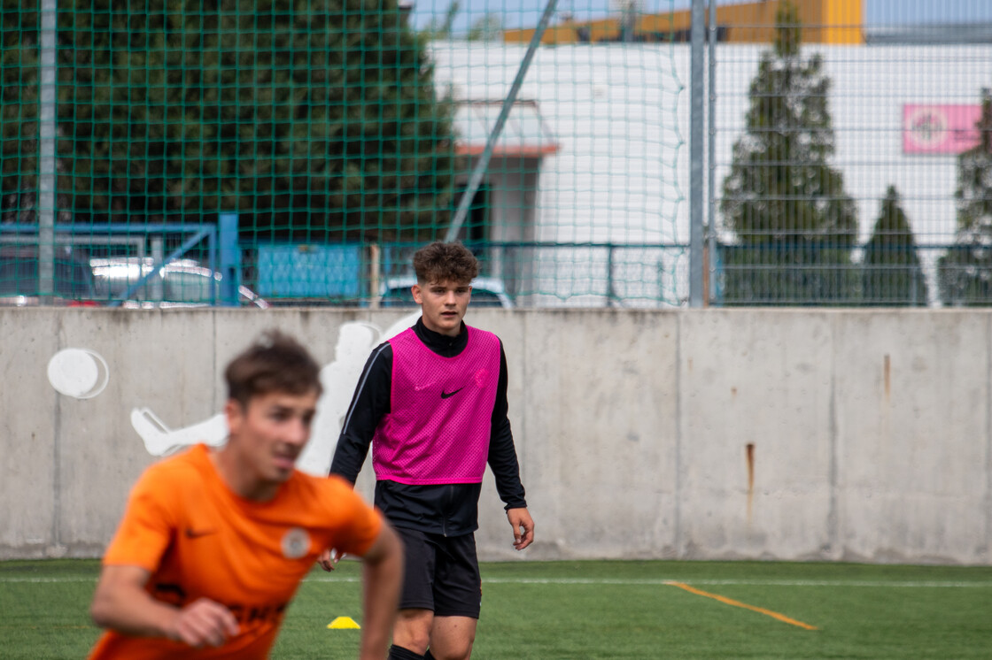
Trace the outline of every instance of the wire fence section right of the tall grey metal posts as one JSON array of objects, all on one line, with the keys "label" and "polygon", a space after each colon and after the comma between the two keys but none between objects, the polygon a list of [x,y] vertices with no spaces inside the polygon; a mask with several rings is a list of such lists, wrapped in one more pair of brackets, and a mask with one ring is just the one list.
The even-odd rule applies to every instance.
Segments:
[{"label": "wire fence section right of the tall grey metal posts", "polygon": [[[715,49],[716,299],[992,302],[990,8],[833,4],[861,20],[780,5],[771,44]],[[809,43],[807,26],[848,43]]]}]

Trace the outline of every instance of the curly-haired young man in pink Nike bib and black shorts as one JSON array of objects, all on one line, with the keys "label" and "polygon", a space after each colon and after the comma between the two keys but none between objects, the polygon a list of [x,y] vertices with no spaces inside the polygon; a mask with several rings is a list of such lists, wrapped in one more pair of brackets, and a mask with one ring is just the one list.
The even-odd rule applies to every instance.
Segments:
[{"label": "curly-haired young man in pink Nike bib and black shorts", "polygon": [[534,541],[534,520],[507,417],[502,343],[462,321],[478,261],[459,243],[437,242],[418,251],[414,270],[422,316],[366,362],[330,472],[353,484],[371,445],[375,503],[406,547],[389,658],[463,660],[481,605],[474,532],[486,463],[518,550]]}]

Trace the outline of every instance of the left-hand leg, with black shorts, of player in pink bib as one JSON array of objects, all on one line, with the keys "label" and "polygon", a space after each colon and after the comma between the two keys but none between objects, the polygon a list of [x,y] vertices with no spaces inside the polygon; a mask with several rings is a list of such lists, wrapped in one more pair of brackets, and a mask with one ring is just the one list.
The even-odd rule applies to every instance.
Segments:
[{"label": "left-hand leg, with black shorts, of player in pink bib", "polygon": [[403,540],[404,574],[400,611],[393,626],[390,660],[420,660],[431,642],[434,623],[434,544],[429,534],[397,527]]}]

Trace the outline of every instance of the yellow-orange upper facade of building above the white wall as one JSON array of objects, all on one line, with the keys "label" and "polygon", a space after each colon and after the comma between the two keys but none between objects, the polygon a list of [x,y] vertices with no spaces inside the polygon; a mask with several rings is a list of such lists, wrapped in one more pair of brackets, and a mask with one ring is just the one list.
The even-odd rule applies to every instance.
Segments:
[{"label": "yellow-orange upper facade of building above the white wall", "polygon": [[[864,44],[862,0],[792,0],[803,24],[804,44]],[[721,4],[717,2],[716,25],[722,43],[764,44],[772,41],[775,15],[780,0]],[[708,2],[707,2],[708,5]],[[638,16],[633,41],[688,41],[691,11],[688,9]],[[507,43],[529,43],[534,28],[507,30]],[[598,21],[566,22],[550,26],[543,44],[621,41],[621,20],[610,17]]]}]

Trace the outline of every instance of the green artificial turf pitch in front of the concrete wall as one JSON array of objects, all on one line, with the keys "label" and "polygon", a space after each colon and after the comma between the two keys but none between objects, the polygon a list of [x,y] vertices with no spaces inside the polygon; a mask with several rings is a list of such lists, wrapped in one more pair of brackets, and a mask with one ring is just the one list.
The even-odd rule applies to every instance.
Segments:
[{"label": "green artificial turf pitch in front of the concrete wall", "polygon": [[[98,570],[0,562],[0,657],[84,657]],[[353,561],[314,570],[272,657],[354,658],[360,631],[327,624],[361,623],[360,574]],[[480,660],[992,657],[992,567],[509,562],[483,564],[482,579]]]}]

